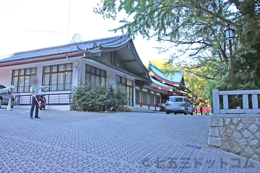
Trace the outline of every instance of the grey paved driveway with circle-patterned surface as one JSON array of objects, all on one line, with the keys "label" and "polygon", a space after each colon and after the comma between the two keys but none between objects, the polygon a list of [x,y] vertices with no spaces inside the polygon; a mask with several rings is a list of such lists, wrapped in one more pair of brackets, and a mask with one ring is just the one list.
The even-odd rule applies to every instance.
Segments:
[{"label": "grey paved driveway with circle-patterned surface", "polygon": [[0,172],[260,172],[257,161],[207,147],[210,116],[55,110],[39,116],[0,109]]}]

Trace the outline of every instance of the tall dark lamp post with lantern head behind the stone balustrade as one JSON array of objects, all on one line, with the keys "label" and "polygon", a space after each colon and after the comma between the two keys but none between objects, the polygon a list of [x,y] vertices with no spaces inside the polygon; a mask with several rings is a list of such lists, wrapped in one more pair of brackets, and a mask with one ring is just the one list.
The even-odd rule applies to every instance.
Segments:
[{"label": "tall dark lamp post with lantern head behind the stone balustrade", "polygon": [[[227,44],[229,46],[229,52],[230,52],[231,85],[232,85],[232,90],[236,90],[235,72],[234,72],[234,63],[233,63],[233,54],[232,54],[232,45],[234,45],[233,32],[234,32],[234,29],[231,29],[228,24],[228,27],[225,30],[225,35],[226,35],[226,40],[227,40]],[[237,107],[237,101],[236,101],[235,95],[232,95],[232,100],[233,100],[233,108],[235,109]]]}]

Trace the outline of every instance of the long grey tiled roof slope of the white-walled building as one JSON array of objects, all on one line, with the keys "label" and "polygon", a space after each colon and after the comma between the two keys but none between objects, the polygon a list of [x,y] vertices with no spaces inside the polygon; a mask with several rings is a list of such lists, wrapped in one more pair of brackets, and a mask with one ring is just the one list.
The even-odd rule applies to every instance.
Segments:
[{"label": "long grey tiled roof slope of the white-walled building", "polygon": [[88,50],[88,52],[90,53],[96,53],[100,51],[98,49],[94,49],[96,47],[114,48],[126,44],[129,40],[131,40],[129,34],[124,34],[124,35],[101,38],[101,39],[90,40],[85,42],[70,43],[61,46],[29,50],[25,52],[17,52],[14,54],[0,56],[0,64],[7,64],[8,62],[14,62],[14,61],[21,62],[25,59],[35,59],[35,58],[41,59],[44,57],[47,58],[47,57],[61,56],[64,54],[74,54],[86,50]]}]

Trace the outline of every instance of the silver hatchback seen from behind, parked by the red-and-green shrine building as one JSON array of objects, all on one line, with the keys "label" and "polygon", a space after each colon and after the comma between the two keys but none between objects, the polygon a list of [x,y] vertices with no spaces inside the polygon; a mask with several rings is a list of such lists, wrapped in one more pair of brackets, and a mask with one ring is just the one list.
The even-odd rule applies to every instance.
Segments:
[{"label": "silver hatchback seen from behind, parked by the red-and-green shrine building", "polygon": [[165,103],[165,110],[166,114],[172,112],[174,114],[184,113],[185,115],[193,115],[193,106],[187,97],[170,96]]}]

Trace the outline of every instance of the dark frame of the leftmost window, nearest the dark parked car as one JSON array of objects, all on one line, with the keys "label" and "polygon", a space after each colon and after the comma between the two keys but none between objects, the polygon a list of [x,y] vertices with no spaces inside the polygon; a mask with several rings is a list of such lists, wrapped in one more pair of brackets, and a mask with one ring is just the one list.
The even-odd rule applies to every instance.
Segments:
[{"label": "dark frame of the leftmost window, nearest the dark parked car", "polygon": [[[25,74],[26,73],[26,69],[30,69],[30,72],[29,74]],[[35,69],[35,73],[32,74],[32,69]],[[14,75],[14,72],[18,70],[18,75]],[[24,74],[23,75],[20,75],[20,72],[21,70],[24,70]],[[26,76],[29,76],[29,86],[25,86],[25,77]],[[15,86],[14,89],[12,89],[12,93],[29,93],[30,92],[30,87],[31,87],[31,77],[34,76],[36,78],[37,76],[37,67],[30,67],[30,68],[23,68],[23,69],[13,69],[12,70],[12,85]],[[14,78],[17,77],[17,86],[14,84]],[[24,77],[24,81],[22,82],[23,83],[23,86],[18,86],[18,84],[20,83],[20,77]],[[23,87],[23,91],[20,92],[19,89],[20,87]],[[25,91],[25,87],[28,87],[28,91]]]}]

